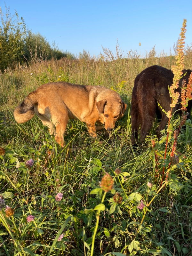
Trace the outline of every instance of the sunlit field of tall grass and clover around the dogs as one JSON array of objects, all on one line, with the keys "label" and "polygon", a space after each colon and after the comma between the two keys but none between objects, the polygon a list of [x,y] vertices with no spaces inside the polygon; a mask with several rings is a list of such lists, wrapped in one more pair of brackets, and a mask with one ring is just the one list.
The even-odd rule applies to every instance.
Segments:
[{"label": "sunlit field of tall grass and clover around the dogs", "polygon": [[[154,49],[143,59],[105,53],[0,74],[0,255],[192,255],[191,121],[179,134],[180,162],[171,170],[157,123],[145,146],[134,152],[130,143],[134,78],[151,65],[170,69],[175,58],[157,58]],[[191,53],[189,47],[185,68],[192,69]],[[127,103],[126,113],[96,141],[84,123],[69,121],[68,147],[60,148],[36,116],[24,124],[13,118],[29,92],[52,81],[112,88]],[[173,126],[178,122],[176,116]],[[172,144],[171,138],[167,159]],[[161,186],[163,166],[170,176]]]}]

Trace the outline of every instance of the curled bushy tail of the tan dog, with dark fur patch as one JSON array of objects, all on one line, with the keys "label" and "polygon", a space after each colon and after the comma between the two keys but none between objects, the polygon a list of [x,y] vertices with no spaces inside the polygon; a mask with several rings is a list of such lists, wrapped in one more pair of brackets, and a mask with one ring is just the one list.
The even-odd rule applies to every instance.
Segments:
[{"label": "curled bushy tail of the tan dog, with dark fur patch", "polygon": [[15,121],[19,124],[29,121],[34,115],[34,105],[37,104],[35,93],[31,92],[14,110]]}]

